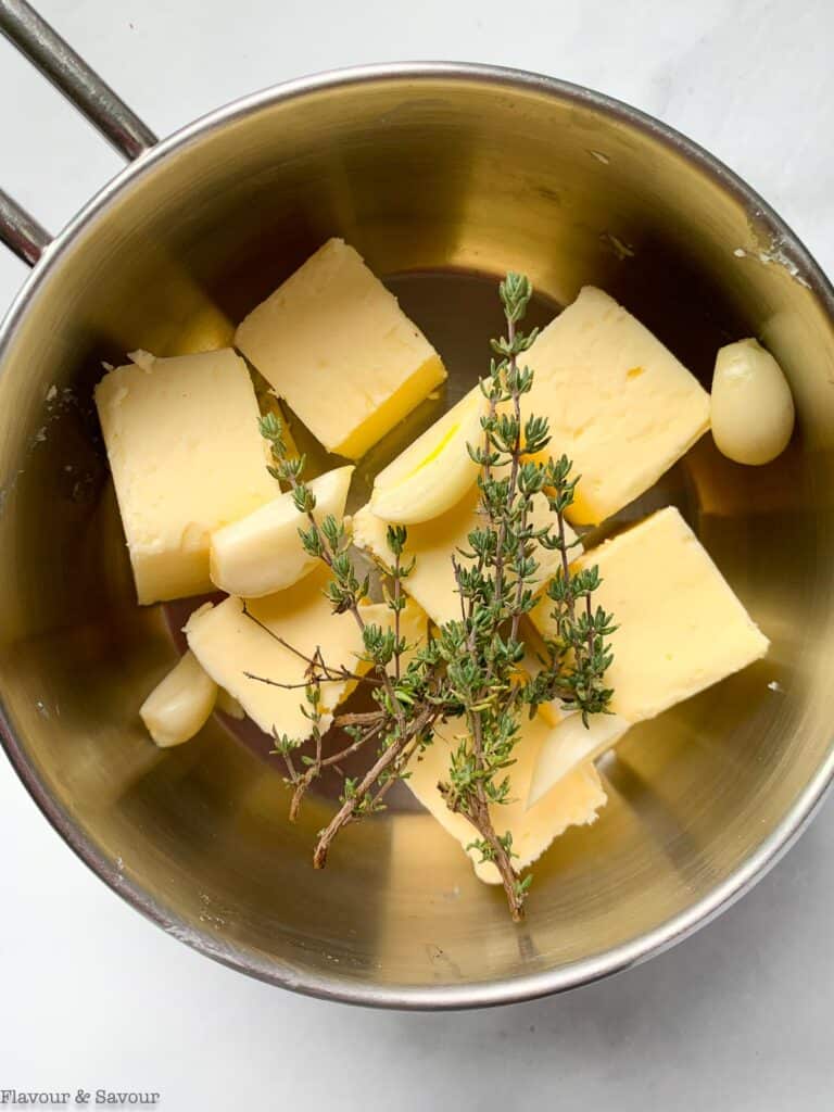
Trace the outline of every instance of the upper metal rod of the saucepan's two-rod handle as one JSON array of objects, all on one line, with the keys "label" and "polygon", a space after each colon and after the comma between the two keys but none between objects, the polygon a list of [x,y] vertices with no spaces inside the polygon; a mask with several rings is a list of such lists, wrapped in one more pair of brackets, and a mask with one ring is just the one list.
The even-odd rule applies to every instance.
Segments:
[{"label": "upper metal rod of the saucepan's two-rod handle", "polygon": [[126,158],[157,137],[26,0],[0,0],[4,34]]}]

